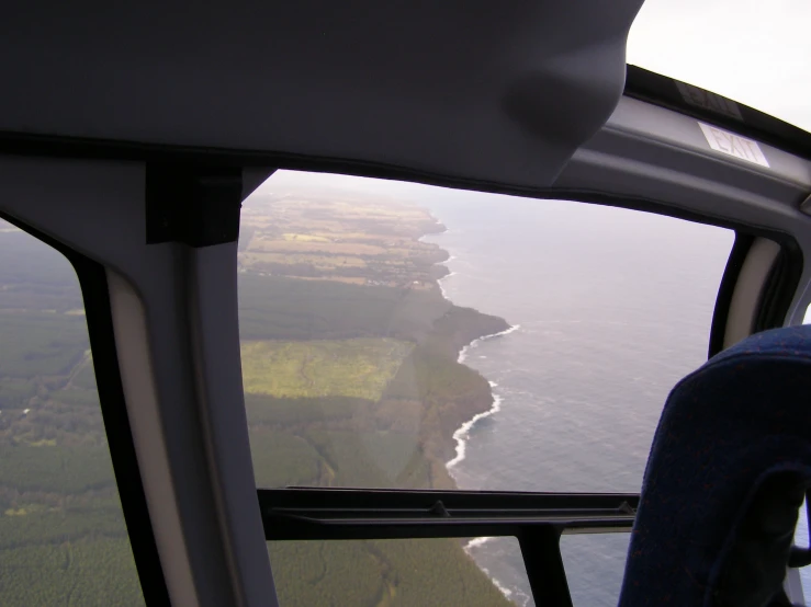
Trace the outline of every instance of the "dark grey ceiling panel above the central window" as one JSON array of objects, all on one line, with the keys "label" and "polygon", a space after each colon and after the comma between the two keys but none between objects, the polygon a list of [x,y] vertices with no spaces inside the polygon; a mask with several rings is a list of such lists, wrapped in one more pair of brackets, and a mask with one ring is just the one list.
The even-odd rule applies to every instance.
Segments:
[{"label": "dark grey ceiling panel above the central window", "polygon": [[543,186],[616,106],[640,4],[20,2],[0,130]]}]

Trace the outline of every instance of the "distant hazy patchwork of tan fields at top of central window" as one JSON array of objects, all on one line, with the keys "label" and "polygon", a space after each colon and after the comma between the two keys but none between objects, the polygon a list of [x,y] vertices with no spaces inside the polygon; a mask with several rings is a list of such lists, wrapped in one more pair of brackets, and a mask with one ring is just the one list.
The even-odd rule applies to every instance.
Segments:
[{"label": "distant hazy patchwork of tan fields at top of central window", "polygon": [[239,268],[260,275],[430,288],[446,259],[418,237],[441,229],[423,208],[334,195],[252,197],[243,213]]}]

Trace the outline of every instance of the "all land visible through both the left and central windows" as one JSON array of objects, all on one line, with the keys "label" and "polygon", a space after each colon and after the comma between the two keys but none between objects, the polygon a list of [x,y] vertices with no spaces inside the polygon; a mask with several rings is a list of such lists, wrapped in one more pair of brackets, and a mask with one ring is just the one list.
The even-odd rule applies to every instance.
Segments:
[{"label": "all land visible through both the left and central windows", "polygon": [[[458,353],[508,325],[442,298],[447,253],[419,240],[442,229],[370,196],[246,203],[239,321],[258,486],[454,488],[452,433],[493,402]],[[140,605],[75,274],[14,230],[0,231],[0,255],[12,257],[0,265],[2,604]],[[269,551],[284,607],[510,605],[457,540]]]}]

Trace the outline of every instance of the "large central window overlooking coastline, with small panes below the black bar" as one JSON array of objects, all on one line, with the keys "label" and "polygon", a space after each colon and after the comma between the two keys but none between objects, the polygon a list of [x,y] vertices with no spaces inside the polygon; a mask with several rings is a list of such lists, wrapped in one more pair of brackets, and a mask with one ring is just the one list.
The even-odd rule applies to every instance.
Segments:
[{"label": "large central window overlooking coastline, with small panes below the black bar", "polygon": [[[669,389],[706,360],[733,241],[621,208],[293,172],[260,186],[241,221],[244,383],[264,488],[638,492]],[[281,597],[311,580],[324,605],[348,596],[337,568],[362,563],[399,580],[392,592],[441,579],[470,594],[471,558],[512,599],[529,596],[504,539],[430,540],[457,574],[394,574],[423,562],[424,541],[279,542],[271,564]],[[578,580],[609,583],[626,547],[564,546],[592,572],[570,576],[581,604],[605,596]]]}]

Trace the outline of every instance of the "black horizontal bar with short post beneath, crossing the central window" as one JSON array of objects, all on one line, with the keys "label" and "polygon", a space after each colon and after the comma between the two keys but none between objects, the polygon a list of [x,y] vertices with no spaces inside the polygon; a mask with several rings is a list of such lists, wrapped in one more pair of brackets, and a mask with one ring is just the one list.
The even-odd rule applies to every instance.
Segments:
[{"label": "black horizontal bar with short post beneath, crossing the central window", "polygon": [[638,494],[260,489],[267,540],[518,539],[537,605],[572,607],[561,534],[630,531]]}]

